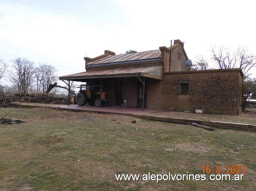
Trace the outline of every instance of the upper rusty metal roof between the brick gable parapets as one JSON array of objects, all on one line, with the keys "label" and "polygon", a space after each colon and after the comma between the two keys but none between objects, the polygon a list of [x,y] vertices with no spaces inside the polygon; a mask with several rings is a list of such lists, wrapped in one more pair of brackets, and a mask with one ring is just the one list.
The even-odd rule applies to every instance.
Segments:
[{"label": "upper rusty metal roof between the brick gable parapets", "polygon": [[121,62],[121,61],[134,61],[134,60],[143,60],[143,59],[151,59],[151,58],[161,58],[161,50],[150,50],[145,52],[120,54],[120,55],[114,55],[114,56],[110,55],[100,60],[90,62],[87,65]]}]

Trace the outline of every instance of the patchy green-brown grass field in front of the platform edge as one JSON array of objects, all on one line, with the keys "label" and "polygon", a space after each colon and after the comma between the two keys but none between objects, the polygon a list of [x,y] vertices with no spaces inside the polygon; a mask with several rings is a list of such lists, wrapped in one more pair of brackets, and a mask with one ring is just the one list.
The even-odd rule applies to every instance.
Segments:
[{"label": "patchy green-brown grass field in front of the platform edge", "polygon": [[[47,108],[0,108],[0,117],[9,112],[15,114],[11,119],[26,122],[0,126],[0,190],[256,190],[253,131],[209,131],[138,118],[131,123],[131,116]],[[227,165],[236,171],[244,165],[245,173],[242,181],[115,177],[201,175],[208,165],[213,175],[218,165],[223,174]],[[212,173],[205,174],[209,179]]]}]

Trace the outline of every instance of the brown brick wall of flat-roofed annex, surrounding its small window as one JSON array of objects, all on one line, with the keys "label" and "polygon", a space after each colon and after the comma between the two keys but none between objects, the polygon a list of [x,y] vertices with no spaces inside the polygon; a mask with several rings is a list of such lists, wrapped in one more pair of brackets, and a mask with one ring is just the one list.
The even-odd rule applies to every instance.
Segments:
[{"label": "brown brick wall of flat-roofed annex, surrounding its small window", "polygon": [[[239,114],[240,72],[224,69],[165,73],[162,81],[149,80],[147,107],[195,112],[204,105],[208,113]],[[189,83],[189,94],[180,94],[180,82]]]}]

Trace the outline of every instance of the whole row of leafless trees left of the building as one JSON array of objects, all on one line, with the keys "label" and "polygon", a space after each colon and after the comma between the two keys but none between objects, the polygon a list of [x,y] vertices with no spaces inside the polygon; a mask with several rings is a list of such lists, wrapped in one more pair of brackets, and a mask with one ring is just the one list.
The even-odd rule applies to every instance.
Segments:
[{"label": "whole row of leafless trees left of the building", "polygon": [[27,58],[16,58],[11,62],[12,65],[8,66],[0,59],[0,79],[6,73],[16,94],[45,93],[49,84],[58,80],[57,70],[50,64],[39,63],[35,67],[35,63]]}]

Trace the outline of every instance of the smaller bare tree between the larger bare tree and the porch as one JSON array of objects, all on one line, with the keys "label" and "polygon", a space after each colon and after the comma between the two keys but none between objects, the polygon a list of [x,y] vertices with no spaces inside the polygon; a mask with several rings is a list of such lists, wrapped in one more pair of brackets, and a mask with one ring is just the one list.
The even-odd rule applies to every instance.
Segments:
[{"label": "smaller bare tree between the larger bare tree and the porch", "polygon": [[50,64],[39,64],[35,71],[37,93],[45,93],[49,85],[58,79],[56,72],[56,68]]}]

